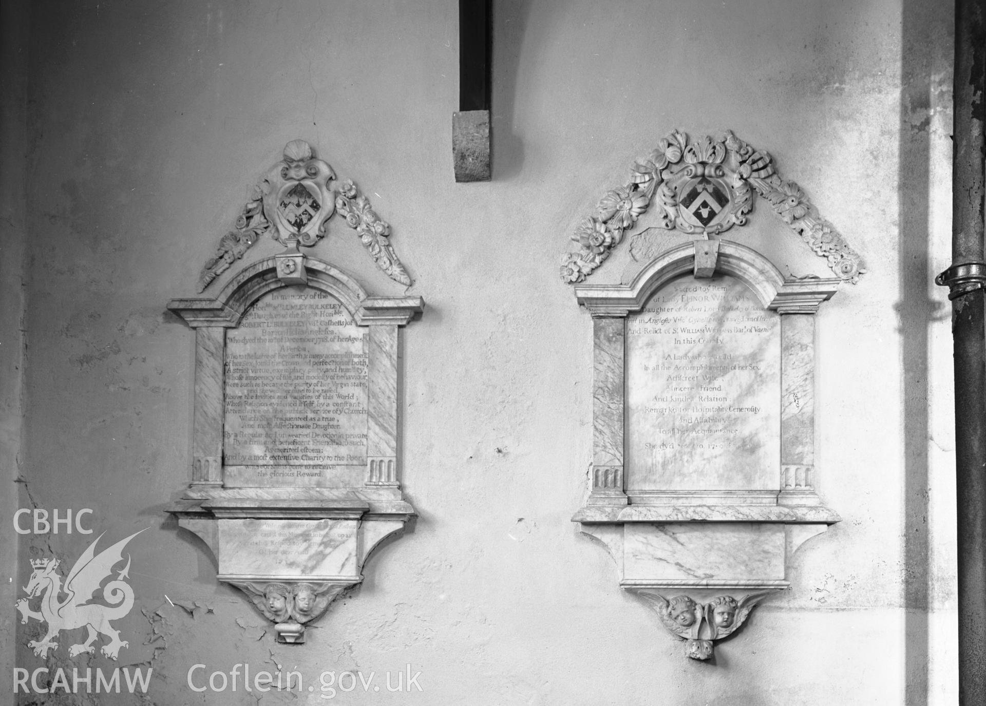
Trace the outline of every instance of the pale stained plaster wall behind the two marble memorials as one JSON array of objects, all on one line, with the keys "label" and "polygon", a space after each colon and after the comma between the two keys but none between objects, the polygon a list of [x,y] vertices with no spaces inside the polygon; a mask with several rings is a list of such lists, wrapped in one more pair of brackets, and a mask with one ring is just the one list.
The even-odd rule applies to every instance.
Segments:
[{"label": "pale stained plaster wall behind the two marble memorials", "polygon": [[[117,623],[130,643],[117,664],[153,676],[144,696],[21,703],[332,703],[322,671],[376,672],[369,690],[336,692],[359,704],[954,701],[951,351],[931,282],[949,259],[948,3],[494,0],[494,178],[472,184],[452,171],[450,0],[89,0],[24,15],[24,117],[4,145],[25,136],[22,195],[5,173],[25,227],[5,224],[4,250],[26,287],[4,302],[26,336],[5,314],[3,347],[23,352],[26,377],[23,416],[3,412],[23,440],[5,482],[19,507],[93,509],[95,534],[6,525],[6,583],[25,584],[29,559],[150,528],[131,547],[137,605]],[[569,521],[591,460],[592,324],[559,256],[674,128],[733,129],[768,151],[869,264],[818,321],[818,487],[843,521],[799,551],[792,590],[714,665],[686,660]],[[192,332],[165,305],[194,294],[295,138],[371,198],[407,293],[428,305],[402,339],[402,479],[419,517],[303,647],[275,645],[163,512],[190,478],[193,365]],[[825,274],[765,208],[751,221],[730,237]],[[315,254],[374,294],[404,291],[338,220]],[[639,266],[628,242],[593,277]],[[17,633],[19,667],[45,665],[25,646],[36,638]],[[195,664],[200,685],[239,663],[300,671],[306,691],[186,683]],[[112,667],[64,649],[47,663],[86,665]],[[389,693],[384,675],[408,665],[422,691]]]}]

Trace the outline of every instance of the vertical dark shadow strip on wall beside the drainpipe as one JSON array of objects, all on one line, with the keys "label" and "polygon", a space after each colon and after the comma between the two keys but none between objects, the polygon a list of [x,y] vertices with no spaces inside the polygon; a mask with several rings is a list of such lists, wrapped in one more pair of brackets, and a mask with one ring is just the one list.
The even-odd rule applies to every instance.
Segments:
[{"label": "vertical dark shadow strip on wall beside the drainpipe", "polygon": [[901,23],[897,314],[904,376],[904,700],[909,706],[927,704],[929,697],[928,334],[933,320],[950,314],[928,296],[935,276],[928,252],[932,77],[935,54],[951,27],[951,16],[942,17],[939,5],[903,0]]}]

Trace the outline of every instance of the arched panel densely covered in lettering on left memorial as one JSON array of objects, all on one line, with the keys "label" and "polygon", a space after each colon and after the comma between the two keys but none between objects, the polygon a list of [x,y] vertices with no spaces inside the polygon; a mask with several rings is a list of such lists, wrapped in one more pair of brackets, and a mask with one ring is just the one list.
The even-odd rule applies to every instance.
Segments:
[{"label": "arched panel densely covered in lettering on left memorial", "polygon": [[226,484],[324,485],[328,469],[365,466],[367,363],[366,329],[331,295],[256,302],[226,334]]}]

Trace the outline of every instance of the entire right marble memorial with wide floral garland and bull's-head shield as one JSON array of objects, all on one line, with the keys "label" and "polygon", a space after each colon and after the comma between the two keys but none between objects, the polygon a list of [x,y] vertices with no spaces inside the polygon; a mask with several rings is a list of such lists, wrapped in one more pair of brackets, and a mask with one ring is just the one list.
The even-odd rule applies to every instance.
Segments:
[{"label": "entire right marble memorial with wide floral garland and bull's-head shield", "polygon": [[[724,239],[755,195],[836,276],[785,277]],[[632,280],[588,284],[652,205],[652,230],[674,238]],[[769,155],[732,132],[671,133],[572,240],[561,274],[594,338],[593,459],[572,520],[608,549],[620,586],[707,660],[790,586],[794,551],[839,522],[816,490],[815,315],[865,269]]]}]

